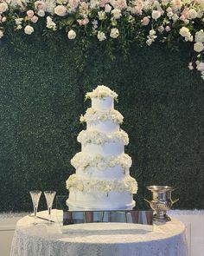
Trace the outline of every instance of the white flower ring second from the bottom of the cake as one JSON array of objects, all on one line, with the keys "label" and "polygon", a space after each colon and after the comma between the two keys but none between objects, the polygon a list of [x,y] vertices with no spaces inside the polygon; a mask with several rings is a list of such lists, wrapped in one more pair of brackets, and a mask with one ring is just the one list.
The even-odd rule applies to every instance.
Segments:
[{"label": "white flower ring second from the bottom of the cake", "polygon": [[73,156],[71,164],[76,169],[80,168],[83,171],[86,171],[87,167],[97,167],[99,171],[104,171],[107,167],[115,167],[117,165],[121,165],[124,173],[126,173],[126,171],[131,167],[132,161],[128,154],[120,154],[117,157],[104,157],[101,154],[92,156],[90,154],[79,152]]}]

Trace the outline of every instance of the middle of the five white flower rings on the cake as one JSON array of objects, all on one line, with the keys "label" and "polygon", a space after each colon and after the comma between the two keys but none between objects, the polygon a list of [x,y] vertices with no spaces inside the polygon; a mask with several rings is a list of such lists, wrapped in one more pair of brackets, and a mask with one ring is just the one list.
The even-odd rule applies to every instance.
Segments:
[{"label": "middle of the five white flower rings on the cake", "polygon": [[105,142],[121,142],[124,145],[128,145],[129,137],[122,129],[112,133],[112,135],[105,135],[98,131],[82,130],[77,137],[77,141],[83,145],[88,143],[101,145],[105,144]]}]

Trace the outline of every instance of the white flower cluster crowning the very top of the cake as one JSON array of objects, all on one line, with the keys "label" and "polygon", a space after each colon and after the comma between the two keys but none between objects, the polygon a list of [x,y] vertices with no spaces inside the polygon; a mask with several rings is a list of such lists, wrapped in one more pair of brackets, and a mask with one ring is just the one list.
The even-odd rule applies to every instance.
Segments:
[{"label": "white flower cluster crowning the very top of the cake", "polygon": [[105,85],[98,85],[98,87],[93,89],[92,92],[86,93],[86,99],[105,97],[112,97],[113,99],[117,100],[118,94]]}]

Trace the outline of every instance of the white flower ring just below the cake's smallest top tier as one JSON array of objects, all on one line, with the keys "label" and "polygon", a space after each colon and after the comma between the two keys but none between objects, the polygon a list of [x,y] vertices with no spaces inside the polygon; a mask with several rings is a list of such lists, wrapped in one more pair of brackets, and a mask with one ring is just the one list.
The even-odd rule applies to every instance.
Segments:
[{"label": "white flower ring just below the cake's smallest top tier", "polygon": [[96,111],[94,108],[87,108],[86,114],[80,116],[80,122],[97,122],[112,120],[115,123],[121,124],[124,120],[124,116],[117,110],[110,109],[107,112]]}]

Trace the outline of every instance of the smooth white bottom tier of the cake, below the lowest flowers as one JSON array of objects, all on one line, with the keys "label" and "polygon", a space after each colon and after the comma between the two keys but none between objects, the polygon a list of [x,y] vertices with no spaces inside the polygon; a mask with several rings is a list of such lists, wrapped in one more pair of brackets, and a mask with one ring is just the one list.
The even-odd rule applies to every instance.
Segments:
[{"label": "smooth white bottom tier of the cake, below the lowest flowers", "polygon": [[129,192],[92,193],[71,189],[67,206],[70,211],[83,210],[131,210],[135,201]]}]

